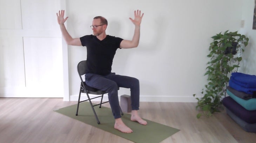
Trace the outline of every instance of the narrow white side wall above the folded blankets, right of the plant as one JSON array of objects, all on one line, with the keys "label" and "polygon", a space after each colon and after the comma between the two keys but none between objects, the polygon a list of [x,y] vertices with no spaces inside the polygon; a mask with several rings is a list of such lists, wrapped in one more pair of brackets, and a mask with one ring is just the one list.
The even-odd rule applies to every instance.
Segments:
[{"label": "narrow white side wall above the folded blankets, right of the plant", "polygon": [[239,72],[245,74],[256,75],[256,30],[252,29],[252,21],[254,14],[254,0],[244,0],[243,1],[243,15],[242,20],[244,20],[244,28],[241,28],[241,33],[249,38],[248,46],[245,47],[245,51],[242,54],[241,68]]}]

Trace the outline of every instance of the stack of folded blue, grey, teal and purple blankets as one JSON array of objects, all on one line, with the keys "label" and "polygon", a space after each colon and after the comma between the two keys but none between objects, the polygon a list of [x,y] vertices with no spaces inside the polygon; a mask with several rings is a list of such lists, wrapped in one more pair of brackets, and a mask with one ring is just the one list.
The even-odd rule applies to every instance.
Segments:
[{"label": "stack of folded blue, grey, teal and purple blankets", "polygon": [[256,132],[256,76],[232,73],[229,96],[223,98],[227,114],[245,131]]}]

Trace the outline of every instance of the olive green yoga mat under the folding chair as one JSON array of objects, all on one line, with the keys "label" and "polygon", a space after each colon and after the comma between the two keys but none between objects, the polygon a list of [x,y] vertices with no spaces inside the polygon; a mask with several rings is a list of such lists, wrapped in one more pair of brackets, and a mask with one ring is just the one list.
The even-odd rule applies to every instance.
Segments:
[{"label": "olive green yoga mat under the folding chair", "polygon": [[60,108],[59,110],[55,110],[55,112],[69,116],[70,118],[79,120],[96,128],[108,131],[109,133],[126,138],[127,140],[135,143],[159,143],[179,131],[179,129],[146,119],[144,120],[148,122],[148,125],[140,125],[138,122],[133,122],[130,120],[130,114],[124,113],[122,120],[129,128],[133,130],[133,133],[121,133],[120,131],[114,129],[115,120],[110,108],[104,106],[101,108],[99,108],[99,106],[94,107],[100,120],[100,125],[98,125],[89,102],[80,103],[78,116],[75,115],[76,107],[77,104]]}]

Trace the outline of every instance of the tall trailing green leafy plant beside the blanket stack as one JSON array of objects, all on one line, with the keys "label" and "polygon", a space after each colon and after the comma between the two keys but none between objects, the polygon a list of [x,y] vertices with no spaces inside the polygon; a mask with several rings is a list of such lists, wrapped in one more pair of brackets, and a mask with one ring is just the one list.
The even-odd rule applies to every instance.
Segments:
[{"label": "tall trailing green leafy plant beside the blanket stack", "polygon": [[[236,32],[225,31],[223,34],[219,33],[213,38],[210,43],[210,53],[207,57],[210,61],[207,63],[206,73],[208,76],[208,84],[205,89],[202,89],[203,97],[196,98],[197,106],[203,111],[206,116],[211,116],[214,112],[220,112],[221,99],[225,96],[227,83],[229,82],[229,73],[234,68],[238,68],[242,57],[235,57],[237,49],[242,49],[248,45],[249,38]],[[195,94],[193,95],[195,97]],[[197,114],[200,118],[201,113]]]}]

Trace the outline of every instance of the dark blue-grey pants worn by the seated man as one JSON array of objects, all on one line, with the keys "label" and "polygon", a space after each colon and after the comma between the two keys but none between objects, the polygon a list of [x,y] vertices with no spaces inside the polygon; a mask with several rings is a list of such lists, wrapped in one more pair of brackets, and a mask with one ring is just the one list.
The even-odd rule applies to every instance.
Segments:
[{"label": "dark blue-grey pants worn by the seated man", "polygon": [[88,73],[86,74],[85,79],[88,86],[108,92],[109,104],[115,119],[121,118],[118,87],[130,88],[132,110],[139,110],[140,83],[137,78],[116,75],[115,73],[110,73],[106,76]]}]

